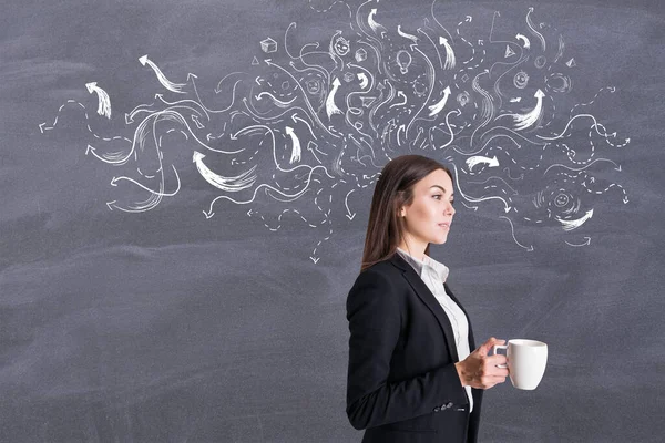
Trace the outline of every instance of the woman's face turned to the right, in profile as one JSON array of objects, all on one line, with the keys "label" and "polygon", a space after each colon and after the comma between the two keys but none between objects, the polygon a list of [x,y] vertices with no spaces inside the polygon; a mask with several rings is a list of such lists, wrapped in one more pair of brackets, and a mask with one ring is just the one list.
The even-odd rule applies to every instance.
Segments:
[{"label": "woman's face turned to the right, in profile", "polygon": [[406,217],[406,241],[422,250],[428,243],[446,243],[454,215],[452,202],[452,181],[446,171],[433,171],[416,183],[413,200],[400,214]]}]

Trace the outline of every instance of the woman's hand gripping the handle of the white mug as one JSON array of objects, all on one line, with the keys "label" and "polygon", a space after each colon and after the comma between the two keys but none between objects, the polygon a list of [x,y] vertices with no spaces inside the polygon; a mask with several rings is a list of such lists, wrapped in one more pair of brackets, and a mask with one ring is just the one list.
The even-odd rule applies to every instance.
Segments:
[{"label": "woman's hand gripping the handle of the white mug", "polygon": [[508,369],[497,368],[497,364],[505,364],[505,356],[488,356],[494,344],[504,343],[505,340],[498,340],[492,337],[464,360],[454,363],[462,387],[490,389],[505,381]]}]

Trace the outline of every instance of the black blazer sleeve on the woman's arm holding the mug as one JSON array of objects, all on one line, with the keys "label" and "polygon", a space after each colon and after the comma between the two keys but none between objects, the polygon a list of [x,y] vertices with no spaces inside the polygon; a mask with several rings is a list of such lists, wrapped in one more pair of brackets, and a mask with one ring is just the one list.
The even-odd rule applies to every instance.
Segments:
[{"label": "black blazer sleeve on the woman's arm holding the mug", "polygon": [[397,296],[385,275],[368,269],[358,276],[347,298],[350,338],[346,411],[357,430],[413,419],[448,402],[468,402],[454,363],[388,382],[401,329]]}]

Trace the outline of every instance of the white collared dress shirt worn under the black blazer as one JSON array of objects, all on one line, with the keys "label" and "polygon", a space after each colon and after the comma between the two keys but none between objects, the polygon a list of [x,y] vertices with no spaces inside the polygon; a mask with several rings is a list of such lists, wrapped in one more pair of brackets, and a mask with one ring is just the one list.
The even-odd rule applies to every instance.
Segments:
[{"label": "white collared dress shirt worn under the black blazer", "polygon": [[[464,360],[471,353],[469,350],[469,321],[467,320],[467,316],[464,316],[464,311],[462,311],[458,303],[452,301],[450,296],[446,293],[443,284],[448,278],[448,267],[427,255],[423,260],[419,260],[401,248],[397,248],[397,251],[409,265],[411,265],[416,270],[416,274],[424,281],[429,290],[439,301],[439,305],[441,305],[446,311],[450,324],[452,326],[452,332],[454,333],[454,343],[457,346],[458,356],[460,361]],[[473,411],[471,387],[464,387],[464,390],[469,398],[469,413],[471,413],[471,411]]]}]

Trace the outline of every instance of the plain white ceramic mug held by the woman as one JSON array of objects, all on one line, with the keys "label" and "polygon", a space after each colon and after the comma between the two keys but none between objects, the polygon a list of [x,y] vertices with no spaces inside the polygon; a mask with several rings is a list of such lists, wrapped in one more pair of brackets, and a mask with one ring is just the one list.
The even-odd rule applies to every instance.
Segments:
[{"label": "plain white ceramic mug held by the woman", "polygon": [[[512,339],[497,344],[492,351],[505,349],[510,381],[518,389],[533,390],[543,378],[548,365],[548,344],[536,340]],[[507,368],[499,364],[499,368]]]}]

